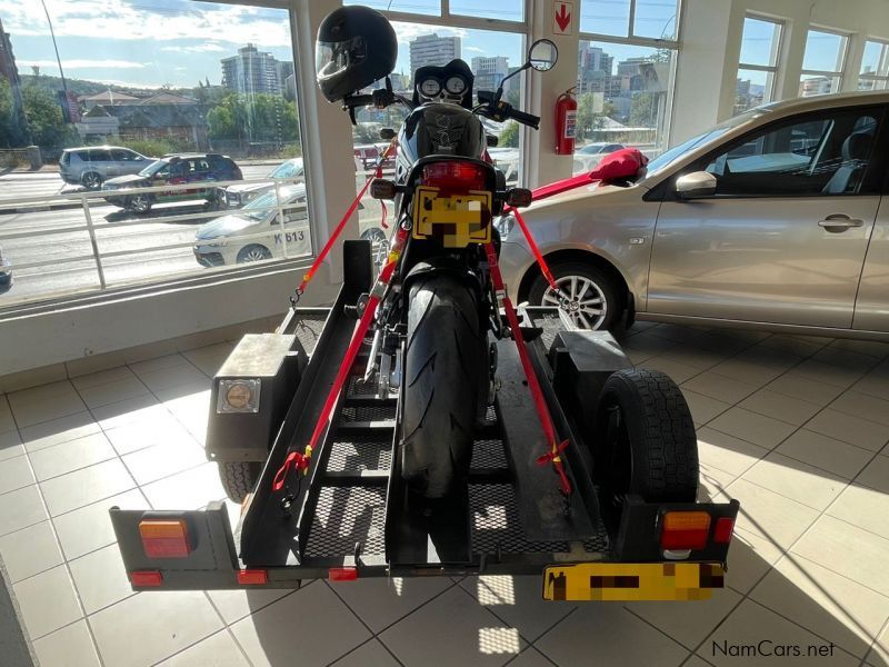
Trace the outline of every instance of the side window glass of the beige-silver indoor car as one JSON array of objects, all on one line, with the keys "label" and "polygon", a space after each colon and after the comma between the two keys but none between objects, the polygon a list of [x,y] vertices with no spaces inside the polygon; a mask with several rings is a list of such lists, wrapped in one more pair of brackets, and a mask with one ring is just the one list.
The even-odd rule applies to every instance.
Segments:
[{"label": "side window glass of the beige-silver indoor car", "polygon": [[781,121],[732,142],[695,170],[716,177],[717,197],[861,193],[878,117],[868,109],[831,109]]}]

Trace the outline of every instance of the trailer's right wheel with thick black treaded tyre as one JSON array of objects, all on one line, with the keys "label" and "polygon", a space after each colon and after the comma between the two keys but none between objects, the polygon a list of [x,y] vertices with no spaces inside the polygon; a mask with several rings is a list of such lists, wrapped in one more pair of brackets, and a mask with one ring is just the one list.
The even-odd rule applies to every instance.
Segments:
[{"label": "trailer's right wheel with thick black treaded tyre", "polygon": [[609,376],[596,411],[593,480],[609,500],[638,494],[648,502],[693,502],[698,440],[682,392],[658,370]]}]

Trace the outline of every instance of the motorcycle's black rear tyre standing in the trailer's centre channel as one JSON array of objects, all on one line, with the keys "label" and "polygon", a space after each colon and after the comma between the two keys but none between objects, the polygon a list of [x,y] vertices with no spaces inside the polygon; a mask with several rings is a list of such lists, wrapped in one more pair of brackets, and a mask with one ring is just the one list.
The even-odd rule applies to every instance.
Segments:
[{"label": "motorcycle's black rear tyre standing in the trailer's centre channel", "polygon": [[475,295],[453,276],[419,276],[410,286],[404,359],[401,475],[426,498],[466,484],[472,457],[486,338]]}]

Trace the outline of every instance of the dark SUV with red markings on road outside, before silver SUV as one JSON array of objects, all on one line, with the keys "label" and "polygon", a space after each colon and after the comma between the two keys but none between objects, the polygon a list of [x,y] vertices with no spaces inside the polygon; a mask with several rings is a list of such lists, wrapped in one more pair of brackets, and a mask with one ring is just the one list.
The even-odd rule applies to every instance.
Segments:
[{"label": "dark SUV with red markings on road outside, before silver SUV", "polygon": [[[241,180],[240,168],[234,160],[219,153],[187,153],[164,156],[142,169],[139,173],[120,176],[107,180],[102,191],[109,192],[104,200],[137,213],[147,213],[156,203],[193,201],[203,199],[217,201],[216,181]],[[157,192],[131,192],[126,196],[113,195],[114,190],[132,188],[156,188],[159,186],[180,186],[194,183],[194,188],[160,190]]]}]

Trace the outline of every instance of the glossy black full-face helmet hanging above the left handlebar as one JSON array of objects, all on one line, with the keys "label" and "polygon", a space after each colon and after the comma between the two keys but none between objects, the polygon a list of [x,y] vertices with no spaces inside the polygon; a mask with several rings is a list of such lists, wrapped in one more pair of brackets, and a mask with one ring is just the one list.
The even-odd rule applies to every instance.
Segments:
[{"label": "glossy black full-face helmet hanging above the left handlebar", "polygon": [[330,102],[390,74],[397,59],[396,31],[368,7],[341,7],[318,28],[314,71]]}]

